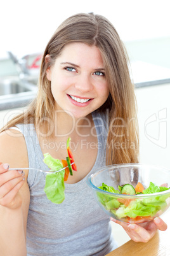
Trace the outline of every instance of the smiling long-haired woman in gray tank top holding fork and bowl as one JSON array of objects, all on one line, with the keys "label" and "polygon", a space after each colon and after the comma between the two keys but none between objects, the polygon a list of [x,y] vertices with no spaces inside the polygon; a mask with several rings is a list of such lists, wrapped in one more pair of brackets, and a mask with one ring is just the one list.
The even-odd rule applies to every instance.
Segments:
[{"label": "smiling long-haired woman in gray tank top holding fork and bowl", "polygon": [[[17,168],[48,171],[43,154],[64,159],[68,137],[77,172],[65,182],[63,203],[53,204],[45,175]],[[138,162],[128,58],[106,18],[80,13],[58,27],[42,57],[37,97],[2,129],[0,145],[1,161],[8,162],[0,166],[3,255],[105,255],[116,247],[110,220],[86,185],[97,167]],[[143,242],[166,229],[160,218],[145,228],[121,225]]]}]

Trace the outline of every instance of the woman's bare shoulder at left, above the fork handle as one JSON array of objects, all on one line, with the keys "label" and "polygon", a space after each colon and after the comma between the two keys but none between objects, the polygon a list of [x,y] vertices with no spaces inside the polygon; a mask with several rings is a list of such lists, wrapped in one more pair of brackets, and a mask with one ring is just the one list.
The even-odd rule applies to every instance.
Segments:
[{"label": "woman's bare shoulder at left, above the fork handle", "polygon": [[1,162],[10,167],[28,167],[27,146],[23,134],[14,129],[8,129],[0,134]]}]

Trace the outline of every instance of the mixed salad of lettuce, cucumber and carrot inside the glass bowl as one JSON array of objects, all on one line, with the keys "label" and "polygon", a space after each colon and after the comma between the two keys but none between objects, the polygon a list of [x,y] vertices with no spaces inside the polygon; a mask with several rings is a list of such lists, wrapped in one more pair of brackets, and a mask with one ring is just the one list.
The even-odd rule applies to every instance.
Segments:
[{"label": "mixed salad of lettuce, cucumber and carrot inside the glass bowl", "polygon": [[136,195],[135,198],[119,198],[97,192],[98,199],[104,208],[107,211],[110,211],[115,218],[119,218],[124,222],[140,223],[152,220],[158,211],[166,208],[166,199],[170,196],[169,190],[169,194],[163,196],[160,195],[140,198],[140,194],[153,194],[169,189],[167,187],[158,187],[152,182],[150,182],[147,189],[144,189],[140,182],[138,182],[136,187],[133,187],[130,184],[125,184],[122,187],[118,186],[118,190],[116,190],[114,187],[107,186],[105,183],[102,183],[102,186],[98,188],[115,194]]}]

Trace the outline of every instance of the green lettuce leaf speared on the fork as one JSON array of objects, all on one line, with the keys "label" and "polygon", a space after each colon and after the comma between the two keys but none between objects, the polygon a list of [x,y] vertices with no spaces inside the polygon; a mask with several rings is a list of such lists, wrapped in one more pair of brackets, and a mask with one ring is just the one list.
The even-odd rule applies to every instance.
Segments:
[{"label": "green lettuce leaf speared on the fork", "polygon": [[[63,168],[62,162],[51,157],[49,153],[44,154],[43,161],[51,169],[50,171],[59,171]],[[60,204],[65,199],[64,175],[65,170],[58,173],[46,174],[46,185],[44,187],[44,192],[52,203]]]}]

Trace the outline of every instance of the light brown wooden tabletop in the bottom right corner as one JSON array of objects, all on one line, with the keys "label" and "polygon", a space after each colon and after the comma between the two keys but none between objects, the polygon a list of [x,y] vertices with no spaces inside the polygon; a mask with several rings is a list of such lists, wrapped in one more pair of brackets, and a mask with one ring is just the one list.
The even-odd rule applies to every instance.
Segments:
[{"label": "light brown wooden tabletop in the bottom right corner", "polygon": [[166,256],[170,255],[170,211],[162,216],[167,224],[166,231],[157,231],[154,238],[148,243],[135,243],[130,240],[119,248],[107,254],[107,256]]}]

